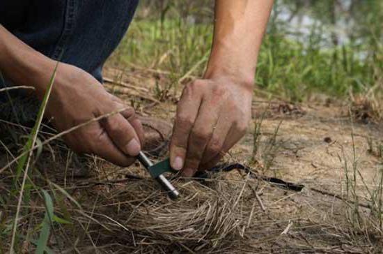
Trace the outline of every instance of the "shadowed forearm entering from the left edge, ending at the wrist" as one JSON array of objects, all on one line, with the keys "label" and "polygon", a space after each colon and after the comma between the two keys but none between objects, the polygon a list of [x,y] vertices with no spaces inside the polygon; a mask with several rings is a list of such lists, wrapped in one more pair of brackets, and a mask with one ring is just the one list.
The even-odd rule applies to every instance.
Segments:
[{"label": "shadowed forearm entering from the left edge, ending at the wrist", "polygon": [[[54,61],[26,45],[0,24],[0,70],[17,85],[35,87],[41,97],[54,71]],[[47,84],[35,82],[47,80]]]}]

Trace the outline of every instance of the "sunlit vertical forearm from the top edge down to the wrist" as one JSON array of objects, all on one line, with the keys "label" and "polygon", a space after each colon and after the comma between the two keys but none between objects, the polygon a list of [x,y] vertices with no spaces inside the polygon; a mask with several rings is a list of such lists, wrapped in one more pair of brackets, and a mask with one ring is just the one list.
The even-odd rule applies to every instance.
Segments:
[{"label": "sunlit vertical forearm from the top edge down to the wrist", "polygon": [[216,0],[212,53],[205,77],[229,75],[253,84],[272,0]]}]

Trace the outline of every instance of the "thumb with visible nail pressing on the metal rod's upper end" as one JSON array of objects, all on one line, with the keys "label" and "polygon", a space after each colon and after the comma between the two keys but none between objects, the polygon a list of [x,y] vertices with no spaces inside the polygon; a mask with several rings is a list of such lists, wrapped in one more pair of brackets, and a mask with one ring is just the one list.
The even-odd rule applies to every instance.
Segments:
[{"label": "thumb with visible nail pressing on the metal rod's upper end", "polygon": [[114,114],[111,117],[102,119],[102,127],[121,151],[129,156],[137,156],[141,151],[139,137],[136,130],[122,114]]}]

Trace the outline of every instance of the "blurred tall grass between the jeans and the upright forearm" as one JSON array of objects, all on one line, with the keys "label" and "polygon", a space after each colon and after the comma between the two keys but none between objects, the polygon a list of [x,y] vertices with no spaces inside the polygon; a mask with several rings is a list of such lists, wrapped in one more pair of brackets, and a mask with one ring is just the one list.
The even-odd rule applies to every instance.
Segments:
[{"label": "blurred tall grass between the jeans and the upright forearm", "polygon": [[[182,77],[209,52],[211,40],[210,25],[189,24],[181,19],[140,20],[133,22],[114,54],[114,61],[169,70]],[[202,71],[203,66],[196,73]]]}]

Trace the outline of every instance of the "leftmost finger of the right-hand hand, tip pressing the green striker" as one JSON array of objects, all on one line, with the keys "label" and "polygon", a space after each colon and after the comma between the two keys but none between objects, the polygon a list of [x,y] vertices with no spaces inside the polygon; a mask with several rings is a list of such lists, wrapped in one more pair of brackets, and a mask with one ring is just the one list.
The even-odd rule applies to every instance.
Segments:
[{"label": "leftmost finger of the right-hand hand, tip pressing the green striker", "polygon": [[170,142],[171,167],[175,170],[181,170],[185,164],[187,140],[189,139],[189,133],[193,128],[200,105],[201,95],[198,88],[196,88],[195,83],[188,84],[178,102]]}]

